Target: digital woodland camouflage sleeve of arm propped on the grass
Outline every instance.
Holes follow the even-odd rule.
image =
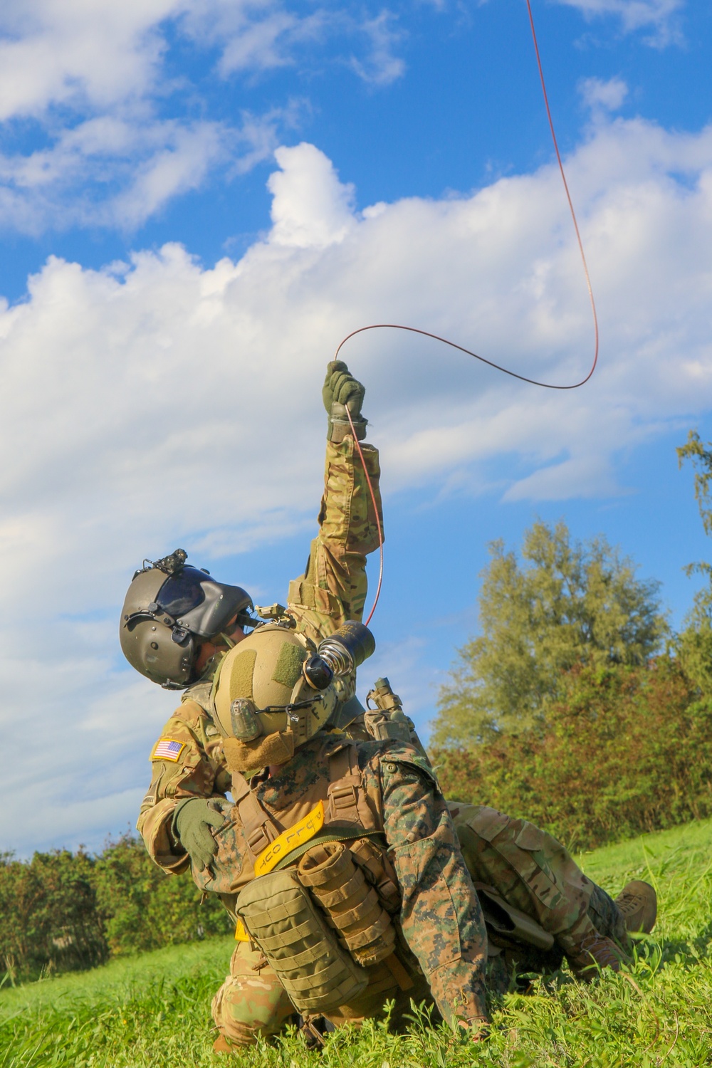
[[[487,934],[447,805],[415,750],[389,748],[379,763],[404,936],[444,1019],[475,1028],[487,1016]]]

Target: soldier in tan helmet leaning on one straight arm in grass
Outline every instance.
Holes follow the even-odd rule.
[[[614,902],[524,820],[456,804],[456,830],[429,761],[405,739],[330,731],[337,698],[323,661],[358,666],[348,660],[358,630],[315,648],[285,616],[221,663],[213,720],[234,804],[184,799],[173,819],[196,884],[237,921],[231,974],[212,1003],[217,1050],[276,1034],[296,1010],[307,1027],[314,1016],[338,1026],[392,1000],[399,1026],[411,999],[479,1038],[488,956],[496,990],[511,963],[553,971],[565,954],[585,977],[596,964],[619,968],[602,931],[624,945],[628,930],[654,922],[651,888],[631,883]],[[192,827],[206,810],[213,833],[199,841]],[[478,884],[487,933],[471,875],[488,883]],[[334,960],[339,946],[350,961]]]

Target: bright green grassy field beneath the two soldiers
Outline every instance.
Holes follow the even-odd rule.
[[[454,1040],[414,1020],[331,1035],[307,1053],[298,1035],[243,1056],[211,1052],[209,1004],[230,939],[211,939],[104,968],[0,990],[0,1068],[469,1068],[712,1065],[712,821],[645,835],[581,858],[614,895],[632,877],[658,889],[660,922],[620,975],[590,986],[563,971],[526,996],[492,1005],[487,1043]]]

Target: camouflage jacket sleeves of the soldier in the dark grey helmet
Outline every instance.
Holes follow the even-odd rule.
[[[365,442],[361,449],[381,519],[378,451]],[[287,597],[297,630],[314,642],[333,633],[347,619],[361,619],[366,599],[366,555],[378,548],[374,505],[351,437],[339,444],[327,443],[318,522],[319,534],[312,541],[304,574],[289,583]],[[176,760],[154,761],[152,783],[141,805],[137,827],[152,858],[168,871],[185,871],[189,864],[170,831],[176,802],[230,790],[222,738],[210,717],[210,680],[202,679],[183,694],[180,707],[161,736],[185,745]]]

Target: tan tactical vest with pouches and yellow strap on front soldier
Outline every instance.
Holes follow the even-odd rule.
[[[312,747],[301,767],[319,773],[282,785],[279,815],[233,772],[235,804],[226,835],[216,835],[215,865],[234,874],[237,937],[259,946],[303,1015],[352,1003],[375,985],[408,990],[420,973],[399,928],[381,799],[364,787],[357,744],[326,735]]]

